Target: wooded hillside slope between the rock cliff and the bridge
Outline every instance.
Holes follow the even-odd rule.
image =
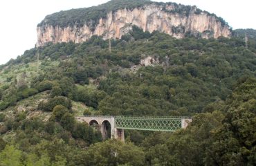
[[[96,36],[83,44],[39,48],[40,72],[28,76],[23,72],[25,79],[19,80],[12,74],[11,82],[3,81],[0,109],[50,91],[51,98],[40,102],[39,109],[51,111],[70,99],[98,114],[192,115],[211,102],[225,100],[239,78],[255,77],[255,46],[246,50],[242,39],[174,39],[134,27],[130,34],[111,42],[111,53],[108,42]],[[35,48],[27,50],[2,66],[2,73],[10,73],[17,65],[30,65],[35,53]],[[147,56],[158,57],[158,65],[138,68],[136,73],[129,70]]]

